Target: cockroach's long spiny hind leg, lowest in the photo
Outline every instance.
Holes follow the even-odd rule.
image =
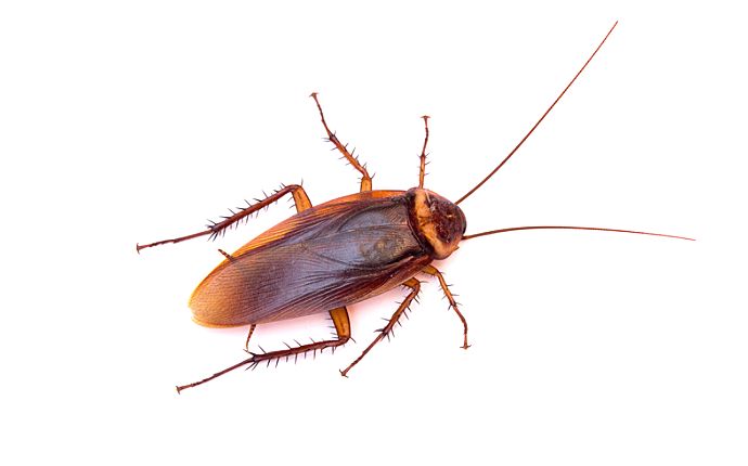
[[[334,351],[335,348],[339,347],[340,345],[345,345],[350,339],[350,320],[348,319],[348,312],[346,311],[346,308],[333,309],[332,311],[330,311],[330,316],[333,319],[333,323],[335,324],[335,332],[337,333],[337,338],[334,340],[312,341],[311,344],[299,345],[296,348],[292,348],[291,346],[286,345],[287,349],[284,350],[263,352],[261,354],[250,353],[250,358],[245,359],[244,361],[234,364],[231,367],[227,367],[223,371],[217,372],[210,377],[206,377],[202,380],[194,381],[192,384],[178,386],[177,392],[181,392],[186,388],[203,385],[206,381],[212,380],[216,377],[220,377],[221,375],[229,373],[235,368],[242,367],[244,365],[248,365],[249,367],[254,368],[259,363],[266,361],[268,362],[268,364],[270,364],[270,361],[272,360],[280,361],[283,358],[288,360],[291,357],[294,357],[294,360],[296,360],[299,354],[306,353],[307,351],[314,351],[314,354],[317,354],[317,351],[322,352],[326,348],[333,348]]]

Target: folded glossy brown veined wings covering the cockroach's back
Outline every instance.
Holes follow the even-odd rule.
[[[430,262],[402,192],[346,196],[298,213],[222,262],[190,299],[197,323],[292,319],[384,293]]]

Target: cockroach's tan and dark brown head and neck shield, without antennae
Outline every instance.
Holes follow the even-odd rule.
[[[467,220],[456,204],[422,187],[408,191],[411,228],[428,246],[435,259],[444,259],[457,248]]]

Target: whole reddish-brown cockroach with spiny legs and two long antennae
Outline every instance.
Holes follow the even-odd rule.
[[[408,191],[373,191],[372,177],[366,166],[340,143],[335,132],[331,131],[318,94],[313,92],[310,96],[314,100],[327,140],[361,174],[359,193],[312,206],[304,187],[298,184],[284,185],[265,199],[232,212],[220,222],[207,225],[205,231],[137,245],[140,253],[149,247],[180,243],[199,236],[215,240],[230,226],[287,194],[293,196],[296,205],[296,215],[272,226],[238,250],[228,254],[219,249],[224,260],[197,285],[190,298],[193,319],[201,325],[248,325],[245,350],[249,358],[202,380],[178,386],[177,391],[205,384],[237,367],[254,368],[266,361],[270,363],[272,360],[284,358],[296,359],[307,351],[317,352],[327,348],[334,350],[351,339],[349,306],[398,286],[409,289],[408,296],[387,324],[378,331],[376,338],[361,355],[340,371],[340,374],[347,377],[350,370],[390,334],[400,316],[416,298],[421,289],[421,282],[416,280],[420,273],[436,277],[441,285],[450,308],[462,322],[462,348],[467,349],[467,321],[441,272],[431,264],[434,260],[449,257],[462,241],[537,229],[595,230],[693,241],[660,233],[566,225],[517,226],[465,234],[467,221],[459,207],[460,204],[499,171],[532,134],[586,68],[617,24],[618,22],[612,25],[583,66],[510,154],[454,203],[424,187],[428,116],[422,117],[426,135],[420,157],[418,185]],[[323,312],[330,313],[337,338],[306,345],[297,344],[296,347],[286,345],[286,349],[275,351],[249,352],[249,338],[258,324]]]

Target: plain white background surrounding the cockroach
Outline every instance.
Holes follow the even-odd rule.
[[[4,2],[0,8],[3,464],[746,464],[745,25],[727,3]],[[312,3],[312,2],[310,2]],[[516,3],[516,2],[513,2]],[[376,172],[457,198],[465,243],[349,379],[401,290],[353,306],[334,357],[241,371],[244,329],[186,300],[284,202],[215,244],[136,254],[304,180]],[[255,344],[326,336],[323,316]]]

